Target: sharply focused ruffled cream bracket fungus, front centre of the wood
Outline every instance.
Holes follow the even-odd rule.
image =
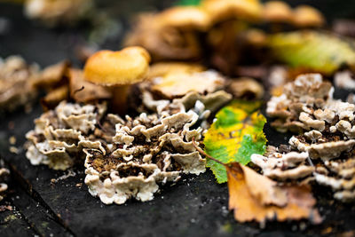
[[[114,148],[106,155],[84,149],[85,184],[106,204],[130,198],[149,201],[158,184],[177,181],[181,172],[200,174],[206,160],[192,143],[202,129],[191,129],[199,116],[189,110],[174,115],[141,114],[115,125]]]

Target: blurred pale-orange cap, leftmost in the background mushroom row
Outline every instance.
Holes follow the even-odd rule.
[[[164,26],[206,30],[210,25],[208,12],[195,6],[176,6],[157,15]]]

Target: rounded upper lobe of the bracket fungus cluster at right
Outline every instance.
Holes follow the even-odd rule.
[[[272,122],[277,130],[326,129],[330,110],[335,109],[331,83],[323,82],[321,75],[299,75],[294,82],[285,84],[283,91],[280,96],[273,96],[266,107],[266,114],[277,118]]]

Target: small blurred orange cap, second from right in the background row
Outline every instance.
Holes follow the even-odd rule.
[[[264,4],[263,18],[270,22],[292,22],[291,7],[282,1],[270,1]]]

